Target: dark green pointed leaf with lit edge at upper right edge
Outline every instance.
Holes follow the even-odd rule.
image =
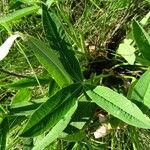
[[[150,60],[150,36],[145,32],[142,26],[137,22],[133,21],[133,35],[136,44],[141,51],[144,58]]]

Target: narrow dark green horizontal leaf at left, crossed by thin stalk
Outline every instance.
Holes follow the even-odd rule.
[[[50,82],[50,78],[39,78],[38,79],[41,85],[48,84]],[[14,81],[12,83],[0,83],[0,87],[5,88],[14,88],[14,89],[20,89],[20,88],[26,88],[26,87],[32,87],[32,86],[38,86],[38,83],[35,78],[25,78],[20,79],[18,81]]]

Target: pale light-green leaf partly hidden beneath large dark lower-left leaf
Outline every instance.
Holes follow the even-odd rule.
[[[43,150],[46,146],[51,144],[54,140],[56,140],[63,130],[69,124],[72,115],[77,109],[77,102],[70,107],[65,116],[51,129],[51,131],[38,143],[32,150]]]

